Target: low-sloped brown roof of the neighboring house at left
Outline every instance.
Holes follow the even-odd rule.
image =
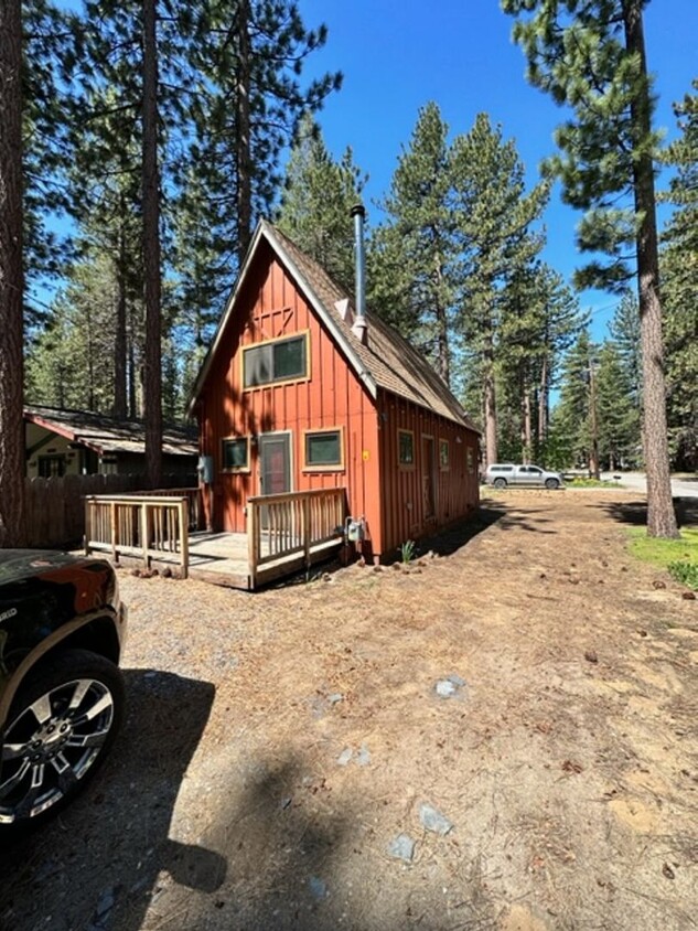
[[[66,410],[43,405],[25,406],[24,419],[97,452],[146,452],[146,427],[138,420],[118,420],[92,410]],[[196,429],[165,427],[162,451],[170,456],[194,456],[197,451]]]

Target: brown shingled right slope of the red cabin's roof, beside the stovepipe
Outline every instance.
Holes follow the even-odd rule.
[[[312,290],[325,313],[340,328],[343,341],[378,387],[477,430],[431,365],[396,330],[369,311],[366,312],[367,340],[363,345],[352,332],[351,323],[343,320],[335,307],[337,301],[350,296],[281,231],[269,223],[265,223],[265,227],[272,244],[276,239],[291,260],[291,274],[296,270],[294,277],[300,275],[301,278],[299,283]]]

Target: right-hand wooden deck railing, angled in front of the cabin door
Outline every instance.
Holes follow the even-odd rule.
[[[260,566],[293,555],[311,564],[311,549],[342,534],[345,489],[266,494],[247,500],[250,587]]]

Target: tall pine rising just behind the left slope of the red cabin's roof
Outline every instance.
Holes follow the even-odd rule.
[[[197,10],[195,129],[181,176],[195,172],[200,183],[193,199],[182,185],[182,207],[211,232],[218,296],[235,279],[254,223],[271,212],[280,157],[301,116],[341,86],[340,73],[300,82],[305,60],[326,35],[324,25],[308,30],[289,0],[211,0]]]

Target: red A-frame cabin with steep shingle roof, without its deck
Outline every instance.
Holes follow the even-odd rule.
[[[476,428],[427,362],[361,310],[357,327],[325,271],[259,224],[191,405],[212,529],[244,533],[250,496],[345,488],[365,555],[389,560],[476,510]]]

